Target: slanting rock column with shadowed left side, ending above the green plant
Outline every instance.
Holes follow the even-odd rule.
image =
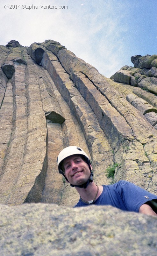
[[[132,136],[132,131],[124,118],[110,105],[109,101],[84,74],[75,72],[72,74],[72,79],[81,94],[84,95],[84,99],[89,103],[113,147],[117,144],[117,141],[113,139],[113,133],[117,134],[117,140],[123,140],[122,137]],[[111,131],[111,127],[113,131]]]

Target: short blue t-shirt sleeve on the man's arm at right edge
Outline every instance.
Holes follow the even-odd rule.
[[[139,207],[148,201],[157,199],[157,196],[135,184],[122,180],[119,181],[120,196],[128,211],[139,212]]]

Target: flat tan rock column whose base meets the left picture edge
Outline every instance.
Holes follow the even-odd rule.
[[[0,202],[2,204],[10,204],[17,200],[15,199],[15,190],[17,189],[17,179],[23,164],[27,132],[25,67],[25,65],[17,65],[16,72],[11,80],[13,85],[14,112],[13,120],[10,118],[9,123],[12,124],[13,121],[13,128],[0,177]],[[10,89],[12,89],[11,87],[10,85]],[[10,94],[12,94],[11,90]],[[4,97],[4,102],[7,101],[6,96]]]

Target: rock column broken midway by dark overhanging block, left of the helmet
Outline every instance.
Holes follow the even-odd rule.
[[[39,84],[47,126],[47,172],[41,202],[59,204],[63,181],[58,172],[56,159],[63,148],[61,124],[64,115],[53,91],[53,81],[44,68],[34,64],[34,75]]]

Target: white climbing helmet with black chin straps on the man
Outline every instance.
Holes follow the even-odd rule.
[[[89,180],[88,180],[85,184],[83,184],[83,185],[81,185],[81,186],[76,186],[76,187],[80,187],[80,188],[82,188],[82,187],[85,188],[86,186],[88,186],[89,182],[92,182],[92,181],[93,181],[93,179],[92,179],[92,177],[93,177],[93,172],[92,172],[92,170],[91,170],[91,162],[90,162],[90,159],[89,159],[89,157],[87,156],[87,154],[84,152],[84,150],[83,150],[82,148],[77,147],[77,146],[70,146],[70,147],[64,148],[64,149],[59,153],[59,155],[58,155],[58,157],[57,157],[57,165],[58,165],[59,173],[61,173],[61,174],[65,177],[65,179],[67,180],[67,177],[65,176],[65,173],[64,173],[64,170],[63,170],[63,168],[62,168],[62,164],[61,164],[61,163],[62,163],[62,161],[63,161],[65,158],[67,158],[68,156],[73,156],[73,155],[82,155],[82,156],[84,157],[86,163],[87,163],[88,166],[89,166],[89,170],[90,170],[90,173],[91,173]],[[67,180],[67,181],[68,181],[68,180]],[[72,187],[74,187],[74,185],[72,185],[72,184],[70,184],[70,185],[71,185]]]

